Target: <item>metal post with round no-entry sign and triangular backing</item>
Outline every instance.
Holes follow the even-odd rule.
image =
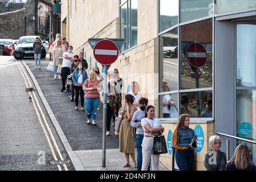
[[[112,63],[114,63],[119,56],[119,50],[124,44],[124,39],[88,39],[92,49],[94,49],[94,57],[97,62],[104,67],[103,80],[103,130],[102,130],[102,167],[105,167],[106,160],[106,130],[107,130],[107,73]]]

